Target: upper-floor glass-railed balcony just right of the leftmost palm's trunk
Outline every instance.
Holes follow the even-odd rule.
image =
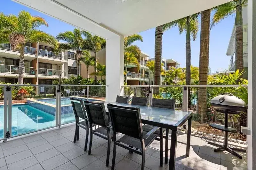
[[[68,58],[66,55],[62,53],[44,50],[44,49],[38,49],[38,59],[39,59],[39,62],[42,62],[42,63],[51,62],[52,64],[59,64],[60,62],[61,63],[68,62]]]

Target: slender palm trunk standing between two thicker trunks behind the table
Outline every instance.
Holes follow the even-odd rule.
[[[190,39],[190,16],[187,17],[187,27],[186,27],[186,85],[191,83],[191,39]],[[190,87],[188,87],[188,108],[191,107],[190,101]]]

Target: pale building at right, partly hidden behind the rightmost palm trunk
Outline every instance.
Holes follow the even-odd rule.
[[[244,47],[244,78],[248,79],[248,53],[247,53],[247,48],[248,48],[248,37],[247,37],[247,32],[248,32],[248,22],[247,22],[247,4],[245,4],[242,7],[242,17],[243,17],[243,47]],[[235,66],[236,66],[236,41],[235,41],[235,25],[233,27],[231,37],[228,43],[228,49],[227,49],[227,54],[230,57],[229,61],[229,71],[235,71]]]

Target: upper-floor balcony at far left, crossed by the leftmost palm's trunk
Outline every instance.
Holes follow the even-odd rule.
[[[0,55],[7,58],[17,58],[20,55],[20,49],[14,48],[10,43],[0,44]],[[24,47],[24,59],[33,60],[36,58],[36,48]]]

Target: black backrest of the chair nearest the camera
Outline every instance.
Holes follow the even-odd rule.
[[[139,107],[122,107],[108,104],[113,134],[116,132],[142,140],[142,124]]]

